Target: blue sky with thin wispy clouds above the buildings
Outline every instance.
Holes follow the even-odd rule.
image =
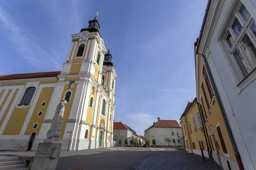
[[[179,120],[196,96],[194,42],[203,0],[11,0],[0,4],[0,74],[60,71],[70,34],[99,12],[117,72],[116,111],[138,134],[160,119]]]

